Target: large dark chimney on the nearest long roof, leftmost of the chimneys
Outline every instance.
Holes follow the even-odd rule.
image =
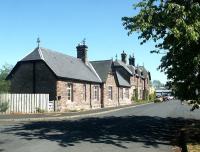
[[[77,50],[77,58],[81,59],[84,63],[86,63],[88,47],[85,44],[85,40],[83,40],[82,44],[78,44],[76,50]]]

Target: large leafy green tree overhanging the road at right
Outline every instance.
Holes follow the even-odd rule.
[[[139,32],[141,44],[153,40],[163,53],[158,67],[181,100],[200,99],[200,2],[199,0],[142,0],[139,13],[123,17],[128,35]]]

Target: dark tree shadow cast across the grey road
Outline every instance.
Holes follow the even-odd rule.
[[[21,124],[4,131],[26,140],[46,139],[56,141],[61,146],[76,143],[111,144],[127,148],[124,143],[141,142],[144,146],[159,147],[172,145],[179,135],[179,129],[186,123],[197,120],[182,118],[161,118],[150,116],[126,116],[87,118]]]

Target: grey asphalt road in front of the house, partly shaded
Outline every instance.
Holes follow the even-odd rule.
[[[200,121],[200,110],[170,101],[86,118],[0,122],[0,152],[172,152],[191,121]]]

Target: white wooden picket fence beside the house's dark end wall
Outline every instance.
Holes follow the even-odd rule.
[[[8,102],[10,113],[37,113],[38,109],[45,112],[52,110],[49,94],[0,94],[0,104]]]

